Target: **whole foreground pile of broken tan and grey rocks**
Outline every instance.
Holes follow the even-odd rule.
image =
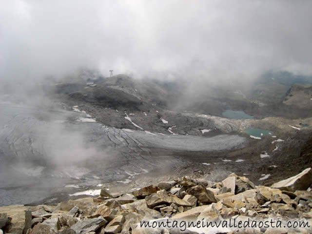
[[[57,206],[0,207],[0,233],[10,234],[201,234],[201,233],[312,233],[312,169],[308,168],[271,187],[255,186],[245,176],[231,174],[222,182],[185,176],[150,185],[128,194],[59,203]],[[310,227],[196,227],[198,221],[235,219],[297,220]],[[141,227],[140,223],[176,220],[176,227]],[[181,226],[193,221],[195,227]],[[281,221],[281,222],[282,222]]]

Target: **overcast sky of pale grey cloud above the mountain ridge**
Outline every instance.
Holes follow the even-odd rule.
[[[312,71],[310,0],[0,0],[0,77]]]

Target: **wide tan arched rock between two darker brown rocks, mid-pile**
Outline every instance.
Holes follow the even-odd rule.
[[[154,208],[159,205],[170,205],[171,203],[176,204],[177,206],[191,207],[192,205],[176,195],[172,195],[164,190],[158,191],[156,194],[152,194],[145,197],[146,204],[149,208]]]

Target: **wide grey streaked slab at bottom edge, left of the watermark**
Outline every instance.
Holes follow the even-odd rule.
[[[71,229],[73,229],[76,234],[87,234],[97,231],[106,223],[107,221],[102,216],[97,218],[85,218],[71,226]]]

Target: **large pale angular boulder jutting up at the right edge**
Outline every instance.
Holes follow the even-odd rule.
[[[296,190],[307,190],[312,184],[312,169],[307,168],[296,176],[274,183],[271,187],[280,190],[294,192]]]

